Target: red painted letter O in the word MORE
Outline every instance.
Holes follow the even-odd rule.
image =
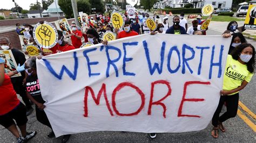
[[[120,113],[117,108],[116,108],[116,94],[119,90],[121,90],[123,87],[131,87],[133,89],[135,89],[138,94],[140,95],[140,97],[142,98],[142,104],[140,104],[140,107],[139,109],[136,111],[136,112],[133,112],[133,113]],[[117,85],[117,87],[113,90],[113,93],[112,93],[112,106],[113,106],[113,110],[114,112],[116,112],[117,115],[119,116],[133,116],[133,115],[138,115],[138,113],[140,111],[142,111],[143,107],[145,105],[145,95],[144,93],[142,92],[142,90],[140,90],[138,87],[136,87],[136,85],[133,85],[132,83],[130,82],[123,82],[123,83],[120,83]]]

